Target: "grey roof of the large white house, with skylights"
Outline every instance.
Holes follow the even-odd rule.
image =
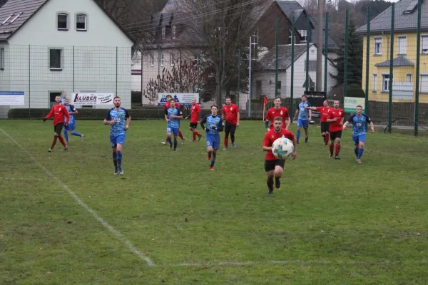
[[[26,21],[28,21],[37,11],[39,11],[44,4],[46,4],[49,0],[9,0],[1,6],[0,8],[0,40],[7,40],[13,34],[24,26]],[[123,33],[128,36],[128,38],[135,43],[134,39],[127,33],[118,22],[113,19],[113,17],[108,14],[106,9],[101,6],[101,4],[96,1],[96,4],[104,11],[104,13],[111,19],[111,21],[121,29]],[[12,15],[12,16],[11,16]],[[9,16],[11,16],[9,18]],[[18,16],[16,18],[16,16]],[[16,18],[16,19],[15,19]],[[7,21],[6,21],[7,19]],[[3,24],[4,23],[4,24]]]

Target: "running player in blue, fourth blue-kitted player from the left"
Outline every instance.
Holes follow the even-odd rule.
[[[211,160],[210,170],[214,170],[215,158],[217,157],[217,150],[220,147],[220,134],[223,132],[223,120],[217,115],[218,106],[211,106],[211,115],[206,116],[200,121],[200,126],[205,130],[205,140],[207,142],[208,160]],[[205,124],[207,124],[205,128]]]

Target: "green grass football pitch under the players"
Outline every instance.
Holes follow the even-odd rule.
[[[0,284],[427,284],[427,138],[367,135],[357,165],[349,130],[330,160],[310,126],[269,197],[261,121],[211,172],[204,138],[170,152],[133,121],[123,177],[108,127],[77,123],[49,153],[51,121],[0,120]]]

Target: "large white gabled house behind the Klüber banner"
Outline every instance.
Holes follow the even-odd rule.
[[[55,95],[115,93],[131,108],[133,40],[95,0],[9,0],[0,8],[0,91],[50,108]]]

